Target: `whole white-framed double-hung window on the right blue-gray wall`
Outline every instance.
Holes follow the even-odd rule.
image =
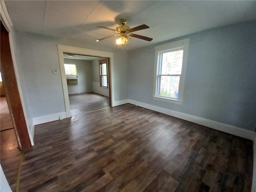
[[[189,38],[155,47],[153,98],[182,104]]]

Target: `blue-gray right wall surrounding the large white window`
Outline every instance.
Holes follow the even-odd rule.
[[[183,105],[152,99],[154,47],[130,51],[128,98],[254,130],[255,32],[256,22],[248,22],[176,39],[190,38]]]

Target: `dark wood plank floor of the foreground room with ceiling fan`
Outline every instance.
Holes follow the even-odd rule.
[[[22,192],[250,192],[252,184],[252,141],[132,104],[37,125],[34,142],[23,151]]]

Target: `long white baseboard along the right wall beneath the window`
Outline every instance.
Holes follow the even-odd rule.
[[[157,112],[160,112],[163,114],[174,116],[174,117],[177,117],[177,118],[180,118],[183,120],[187,120],[187,121],[190,121],[190,122],[193,122],[196,124],[200,124],[200,125],[210,127],[210,128],[216,129],[216,130],[220,130],[220,131],[232,134],[232,135],[236,135],[236,136],[239,136],[242,138],[254,140],[254,132],[253,131],[245,130],[245,129],[235,127],[232,125],[212,121],[209,119],[177,112],[174,110],[170,110],[170,109],[166,109],[166,108],[162,108],[162,107],[158,107],[158,106],[154,106],[154,105],[150,105],[150,104],[146,104],[146,103],[142,103],[142,102],[138,102],[138,101],[134,101],[134,100],[128,100],[128,102],[130,104],[134,104],[136,106],[140,106],[140,107],[147,108],[147,109],[150,109],[153,111],[157,111]]]

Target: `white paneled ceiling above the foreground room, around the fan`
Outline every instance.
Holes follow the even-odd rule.
[[[115,32],[120,19],[133,28],[146,24],[150,28],[133,32],[153,38],[151,42],[131,38],[127,46],[134,50],[202,30],[256,20],[256,1],[6,1],[14,28],[19,31],[89,42],[116,48],[115,38],[95,42]]]

